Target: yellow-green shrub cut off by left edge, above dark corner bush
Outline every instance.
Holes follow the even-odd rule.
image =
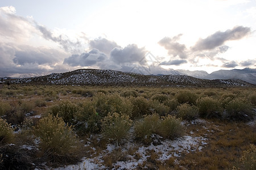
[[[0,118],[0,145],[14,141],[13,128],[5,120]]]

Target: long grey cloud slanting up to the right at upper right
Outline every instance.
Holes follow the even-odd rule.
[[[250,33],[249,27],[234,27],[233,29],[228,29],[224,32],[217,31],[213,35],[208,36],[206,39],[200,39],[192,47],[193,51],[197,50],[210,50],[218,46],[221,46],[226,41],[240,40]],[[225,50],[225,49],[224,49]]]

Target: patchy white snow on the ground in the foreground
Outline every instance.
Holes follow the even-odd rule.
[[[200,151],[205,145],[207,145],[207,138],[203,137],[191,137],[186,135],[181,138],[177,138],[174,141],[166,140],[162,142],[162,145],[154,146],[152,143],[150,146],[143,146],[135,143],[134,141],[127,141],[122,146],[122,152],[127,152],[129,148],[137,148],[135,154],[140,155],[140,158],[135,159],[134,155],[127,156],[126,161],[116,162],[113,165],[114,169],[135,169],[138,165],[142,165],[150,157],[148,151],[154,150],[159,155],[158,161],[164,162],[171,157],[180,157],[181,154],[186,154],[193,151]],[[117,149],[115,145],[108,145],[106,150],[101,151],[101,154],[90,159],[83,158],[82,162],[76,165],[68,165],[66,167],[59,167],[56,170],[73,170],[73,169],[105,169],[104,160],[102,158],[106,154],[110,154]]]

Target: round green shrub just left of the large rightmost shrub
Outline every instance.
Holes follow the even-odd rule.
[[[196,101],[199,108],[199,116],[203,118],[221,117],[223,111],[218,100],[211,97],[202,97]]]

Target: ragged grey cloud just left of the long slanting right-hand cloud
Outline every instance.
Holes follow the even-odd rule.
[[[184,44],[180,44],[177,42],[180,39],[180,35],[175,37],[164,37],[162,40],[158,42],[159,45],[163,46],[166,50],[168,50],[168,55],[180,58],[187,58],[186,46]]]

